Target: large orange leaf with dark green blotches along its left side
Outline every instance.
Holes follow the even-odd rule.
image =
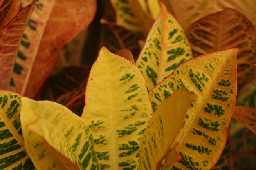
[[[27,3],[29,0],[22,0]],[[37,1],[13,69],[11,90],[34,97],[66,42],[94,17],[95,0]]]

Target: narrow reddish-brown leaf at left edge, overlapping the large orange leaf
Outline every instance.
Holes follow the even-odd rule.
[[[4,2],[7,1],[2,1],[2,3]],[[11,73],[22,39],[22,33],[34,9],[34,5],[35,2],[25,7],[2,28],[2,32],[0,30],[0,89],[9,88]]]

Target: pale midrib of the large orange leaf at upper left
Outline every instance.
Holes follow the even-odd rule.
[[[49,2],[49,1],[48,1],[48,2]],[[41,31],[41,33],[40,33],[39,38],[38,38],[39,41],[37,42],[36,48],[35,48],[34,53],[33,53],[33,55],[32,55],[33,57],[32,57],[31,63],[29,64],[29,69],[28,69],[28,72],[27,72],[27,76],[26,76],[26,79],[25,79],[24,84],[23,84],[23,86],[22,86],[21,95],[24,95],[24,93],[25,93],[27,84],[28,84],[28,82],[29,82],[30,73],[31,73],[31,70],[32,70],[32,68],[33,68],[34,61],[35,61],[35,59],[36,59],[36,55],[37,55],[37,52],[38,52],[38,48],[39,48],[39,46],[40,46],[40,44],[41,44],[41,40],[42,40],[42,37],[43,37],[43,33],[45,32],[45,26],[47,25],[47,22],[48,22],[48,20],[49,20],[49,18],[50,18],[50,15],[51,15],[51,13],[52,13],[52,9],[53,9],[53,7],[54,7],[54,5],[55,5],[55,2],[56,2],[56,0],[54,0],[54,2],[52,2],[52,7],[51,7],[51,9],[47,9],[49,12],[48,12],[48,15],[45,17],[45,21],[46,21],[46,22],[45,22],[45,24],[43,25],[43,29],[42,29],[42,31]],[[33,11],[33,12],[34,12],[34,11]]]

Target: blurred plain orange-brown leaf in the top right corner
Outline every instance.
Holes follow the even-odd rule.
[[[256,0],[161,0],[168,4],[170,11],[182,27],[186,29],[190,24],[200,18],[222,11],[225,8],[232,8],[243,13],[256,26]]]

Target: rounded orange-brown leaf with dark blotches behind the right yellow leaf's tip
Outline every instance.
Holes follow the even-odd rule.
[[[230,48],[238,48],[238,88],[256,77],[254,26],[243,14],[224,9],[208,15],[186,29],[193,56]],[[240,90],[240,89],[239,89]]]

